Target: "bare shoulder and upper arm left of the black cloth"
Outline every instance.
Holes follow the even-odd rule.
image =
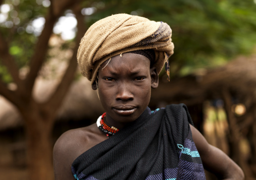
[[[55,179],[74,179],[71,171],[73,161],[105,139],[96,124],[63,133],[53,147]]]

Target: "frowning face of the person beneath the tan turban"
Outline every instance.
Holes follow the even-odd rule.
[[[104,62],[98,72],[98,94],[107,122],[121,128],[136,120],[149,104],[151,87],[157,86],[156,70],[143,55],[124,53]]]

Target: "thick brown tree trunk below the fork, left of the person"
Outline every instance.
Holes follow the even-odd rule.
[[[42,107],[36,104],[30,107],[22,112],[26,119],[28,176],[30,180],[53,180],[51,132],[55,116],[42,113]]]

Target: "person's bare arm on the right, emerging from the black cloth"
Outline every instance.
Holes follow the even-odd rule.
[[[219,179],[244,179],[242,169],[231,158],[222,150],[210,145],[194,126],[190,125],[190,128],[205,169],[214,173]]]

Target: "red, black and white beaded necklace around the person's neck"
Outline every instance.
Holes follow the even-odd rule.
[[[97,119],[97,126],[98,128],[106,133],[107,138],[109,138],[109,135],[114,135],[119,129],[117,129],[114,126],[110,126],[106,123],[106,121],[104,121],[106,117],[106,113],[103,113],[98,119]]]

